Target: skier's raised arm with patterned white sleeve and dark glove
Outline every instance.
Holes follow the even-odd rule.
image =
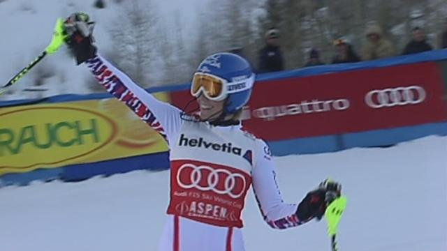
[[[147,93],[112,63],[99,56],[92,38],[93,22],[85,13],[74,13],[64,22],[64,34],[79,64],[86,63],[98,82],[115,98],[124,102],[142,121],[160,133],[168,143],[182,126],[181,111]]]

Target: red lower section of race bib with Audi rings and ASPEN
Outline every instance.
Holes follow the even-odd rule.
[[[251,176],[240,169],[196,160],[174,160],[168,213],[220,227],[242,227]]]

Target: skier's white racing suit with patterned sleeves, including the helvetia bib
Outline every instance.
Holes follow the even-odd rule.
[[[275,167],[263,140],[241,126],[212,126],[156,100],[111,63],[87,61],[105,89],[159,132],[170,149],[170,204],[159,250],[244,250],[241,213],[253,186],[270,227],[295,227],[304,220],[296,204],[281,198]]]

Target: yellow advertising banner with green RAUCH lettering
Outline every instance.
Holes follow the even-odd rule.
[[[162,151],[163,137],[114,98],[0,108],[0,175]]]

